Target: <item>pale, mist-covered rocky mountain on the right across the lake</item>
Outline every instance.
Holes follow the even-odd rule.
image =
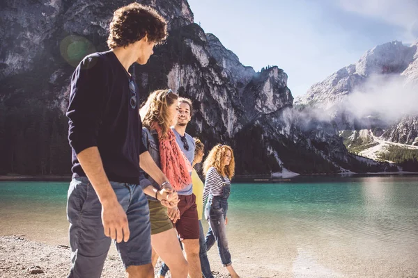
[[[418,144],[417,97],[418,43],[394,41],[374,47],[357,63],[316,83],[295,107],[306,113],[325,111],[350,152],[416,163],[418,150],[412,146]]]

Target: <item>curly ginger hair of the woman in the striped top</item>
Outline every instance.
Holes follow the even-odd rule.
[[[231,162],[229,165],[221,165],[222,161],[224,161],[226,151],[231,152]],[[229,179],[232,179],[235,174],[235,158],[233,156],[232,148],[227,145],[220,144],[213,147],[203,163],[203,173],[205,175],[208,173],[210,167],[215,167],[219,174],[222,174],[222,176],[228,176]]]

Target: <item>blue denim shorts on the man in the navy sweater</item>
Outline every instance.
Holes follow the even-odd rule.
[[[141,186],[111,182],[125,210],[130,238],[116,243],[123,265],[151,263],[151,231],[148,200]],[[70,222],[72,268],[68,277],[100,277],[111,238],[104,235],[102,204],[86,177],[72,179],[68,188],[67,218]]]

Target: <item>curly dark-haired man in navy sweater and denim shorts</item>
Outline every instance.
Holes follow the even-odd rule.
[[[150,182],[140,167],[161,185],[151,190],[153,196],[167,206],[178,199],[142,143],[139,95],[128,69],[146,64],[166,36],[167,23],[152,8],[139,3],[119,8],[109,27],[111,50],[86,56],[72,75],[66,114],[73,172],[69,277],[100,277],[111,240],[127,277],[154,277],[144,195]]]

